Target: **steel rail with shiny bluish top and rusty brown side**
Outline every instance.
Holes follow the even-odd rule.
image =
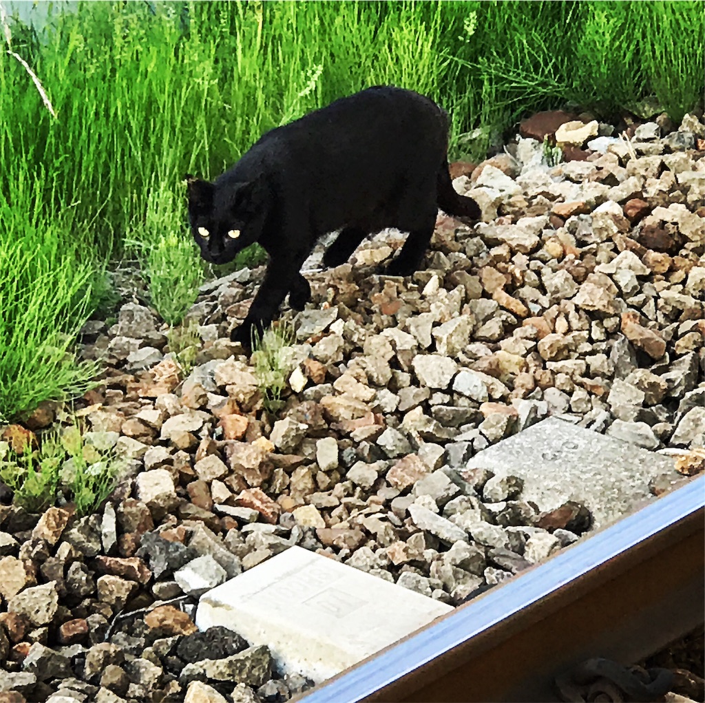
[[[583,700],[581,663],[634,664],[705,621],[704,506],[699,476],[297,700]]]

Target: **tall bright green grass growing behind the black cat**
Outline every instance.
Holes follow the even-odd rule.
[[[704,31],[697,0],[82,1],[41,35],[13,25],[9,44],[0,35],[13,52],[0,53],[0,413],[85,388],[94,369],[68,350],[106,259],[141,255],[178,322],[201,270],[185,173],[213,178],[264,131],[380,83],[448,109],[451,157],[481,159],[517,118],[566,104],[611,116],[654,94],[678,120],[702,99]]]

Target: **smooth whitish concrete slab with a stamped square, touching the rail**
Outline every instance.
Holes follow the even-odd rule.
[[[299,546],[200,599],[196,625],[266,644],[285,673],[317,683],[453,607]]]

